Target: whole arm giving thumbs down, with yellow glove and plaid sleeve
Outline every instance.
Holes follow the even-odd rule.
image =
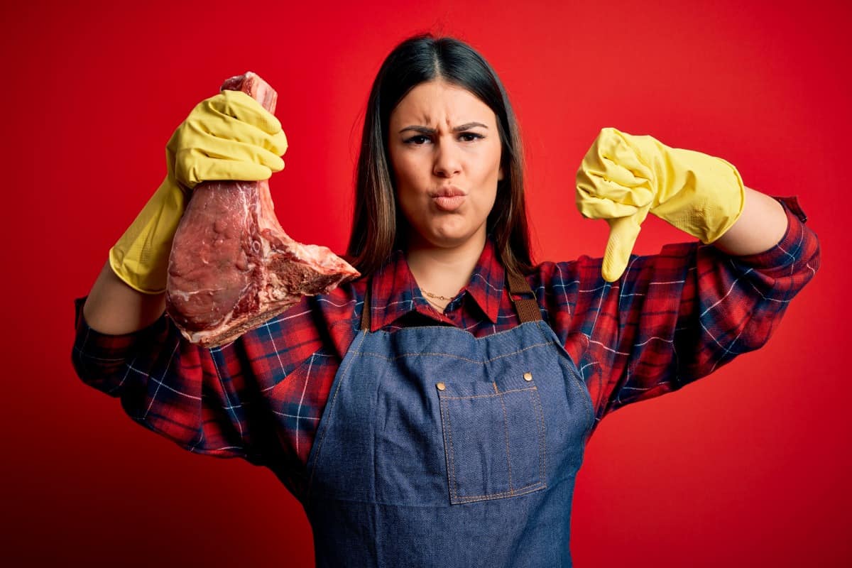
[[[820,265],[795,198],[770,198],[724,159],[648,135],[602,129],[580,164],[577,204],[609,224],[606,253],[560,267],[566,306],[549,310],[570,314],[556,317],[559,333],[598,419],[761,347]],[[704,245],[631,255],[648,213]]]

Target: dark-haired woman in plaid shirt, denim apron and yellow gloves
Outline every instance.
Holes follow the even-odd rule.
[[[597,422],[763,345],[819,265],[795,199],[603,129],[578,205],[609,222],[607,254],[533,266],[498,77],[464,43],[412,37],[368,102],[348,249],[363,277],[222,348],[190,345],[162,315],[185,188],[265,179],[285,147],[244,95],[196,107],[78,300],[73,357],[146,427],[272,469],[308,513],[318,565],[570,565]],[[648,212],[705,244],[630,255]]]

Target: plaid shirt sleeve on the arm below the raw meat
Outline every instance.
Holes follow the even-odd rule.
[[[182,448],[243,457],[290,485],[307,462],[341,353],[354,336],[354,300],[303,297],[237,341],[207,349],[159,318],[135,333],[89,327],[76,301],[72,364],[87,385],[121,400],[130,418]]]

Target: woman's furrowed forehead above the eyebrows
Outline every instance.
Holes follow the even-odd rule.
[[[391,128],[402,123],[452,127],[472,121],[492,127],[497,117],[469,90],[440,80],[420,83],[390,113]]]

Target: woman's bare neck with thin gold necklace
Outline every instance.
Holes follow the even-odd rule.
[[[408,267],[420,290],[452,298],[469,283],[476,261],[485,247],[485,232],[477,233],[463,244],[437,247],[412,243],[406,250]],[[446,303],[441,302],[441,303]]]

